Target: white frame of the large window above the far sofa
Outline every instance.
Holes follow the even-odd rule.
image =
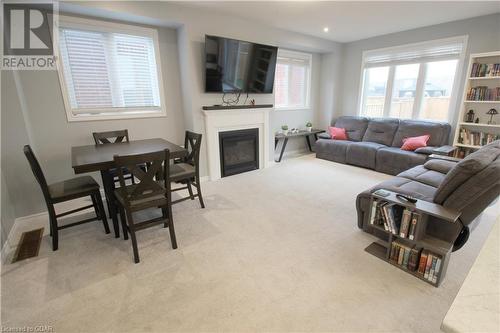
[[[432,58],[415,58],[412,60],[405,60],[405,61],[389,61],[389,62],[381,62],[379,65],[373,65],[373,66],[367,66],[366,58],[370,55],[377,54],[377,53],[396,53],[398,51],[404,51],[404,50],[412,50],[412,49],[418,49],[418,48],[425,48],[425,47],[432,47],[432,46],[438,46],[442,43],[452,43],[452,42],[460,42],[462,44],[462,49],[460,51],[460,54],[457,55],[450,55],[450,56],[440,56],[435,59]],[[419,73],[417,77],[417,82],[416,82],[416,90],[415,90],[415,99],[413,103],[413,109],[412,109],[412,117],[410,119],[412,120],[430,120],[430,121],[436,121],[435,119],[427,119],[427,118],[420,118],[420,115],[422,113],[422,104],[423,104],[423,94],[424,94],[424,85],[425,81],[427,79],[427,64],[429,62],[435,62],[435,61],[445,61],[445,60],[458,60],[457,61],[457,67],[455,70],[455,77],[453,78],[453,85],[452,85],[452,90],[450,94],[450,103],[448,106],[448,112],[447,112],[447,122],[453,123],[455,121],[455,118],[459,112],[457,110],[456,106],[458,104],[458,97],[459,93],[458,90],[460,89],[460,82],[461,78],[463,75],[463,70],[464,70],[464,63],[465,63],[465,55],[467,53],[467,45],[468,44],[468,35],[463,35],[463,36],[456,36],[456,37],[450,37],[450,38],[443,38],[443,39],[435,39],[435,40],[430,40],[430,41],[424,41],[424,42],[418,42],[418,43],[411,43],[411,44],[404,44],[404,45],[398,45],[398,46],[392,46],[392,47],[387,47],[387,48],[381,48],[381,49],[374,49],[374,50],[366,50],[363,51],[362,59],[361,59],[361,71],[360,71],[360,84],[359,84],[359,92],[358,92],[358,105],[357,105],[357,114],[359,116],[364,116],[364,117],[369,117],[368,115],[365,115],[363,112],[363,106],[365,102],[365,72],[367,68],[376,68],[376,67],[389,67],[389,74],[387,78],[387,84],[386,84],[386,93],[385,93],[385,101],[384,101],[384,110],[383,110],[383,115],[382,117],[390,117],[390,111],[391,111],[391,102],[392,102],[392,96],[394,93],[394,78],[396,74],[396,67],[398,65],[406,65],[406,64],[414,64],[418,63],[420,64],[419,66]],[[455,110],[455,111],[453,111]]]

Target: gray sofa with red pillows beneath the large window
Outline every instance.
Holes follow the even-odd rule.
[[[346,129],[348,141],[332,140],[322,133],[316,141],[316,157],[396,175],[424,164],[436,149],[446,146],[450,125],[442,122],[394,118],[340,117],[332,126]],[[428,146],[415,152],[400,149],[406,137],[429,134]]]

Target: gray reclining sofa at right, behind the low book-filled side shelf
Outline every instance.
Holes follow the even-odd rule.
[[[368,222],[368,210],[371,193],[378,189],[409,194],[460,212],[458,225],[435,223],[435,230],[430,230],[455,242],[458,249],[467,241],[476,217],[500,194],[500,140],[463,160],[430,159],[360,193],[356,199],[358,227],[373,234],[377,231]]]

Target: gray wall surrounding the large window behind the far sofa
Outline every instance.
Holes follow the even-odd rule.
[[[342,103],[335,115],[356,115],[358,112],[363,51],[462,35],[468,35],[469,40],[466,60],[461,69],[462,77],[459,81],[458,103],[460,103],[463,83],[468,74],[466,71],[469,54],[500,50],[500,14],[443,23],[345,44],[342,65]],[[458,115],[459,110],[456,112]]]

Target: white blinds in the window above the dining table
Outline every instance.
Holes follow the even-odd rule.
[[[153,38],[61,28],[59,42],[74,114],[160,108]]]

